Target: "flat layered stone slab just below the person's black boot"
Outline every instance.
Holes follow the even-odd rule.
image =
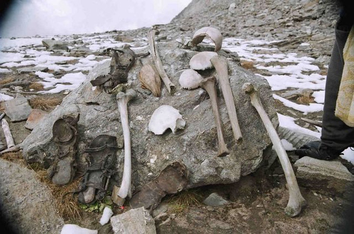
[[[335,195],[353,192],[354,175],[338,161],[303,157],[294,166],[297,167],[296,178],[304,187]]]

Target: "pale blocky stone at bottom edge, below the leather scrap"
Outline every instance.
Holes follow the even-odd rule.
[[[144,207],[110,218],[114,234],[156,234],[155,221]]]

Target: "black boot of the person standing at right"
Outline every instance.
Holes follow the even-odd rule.
[[[320,159],[333,160],[342,154],[343,150],[335,150],[329,146],[322,145],[320,141],[309,142],[299,149],[295,150],[295,154],[302,158],[304,156]]]

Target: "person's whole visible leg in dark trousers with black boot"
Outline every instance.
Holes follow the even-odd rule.
[[[327,72],[325,102],[322,117],[321,142],[310,142],[295,151],[300,157],[331,160],[349,146],[354,146],[354,128],[335,116],[339,85],[343,72],[343,48],[353,22],[340,19],[336,25],[336,38]]]

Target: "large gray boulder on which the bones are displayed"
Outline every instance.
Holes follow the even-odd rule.
[[[178,83],[184,69],[189,68],[189,60],[198,52],[178,48],[177,43],[158,43],[160,57],[171,81],[175,84],[173,94],[169,94],[161,84],[161,97],[154,97],[143,90],[137,79],[142,64],[152,63],[151,55],[140,58],[129,72],[128,80],[137,91],[137,98],[128,105],[132,146],[132,184],[139,188],[159,175],[162,169],[175,161],[185,164],[189,171],[188,187],[208,184],[232,183],[241,175],[254,172],[270,152],[270,139],[250,98],[242,91],[242,84],[251,82],[259,90],[266,112],[274,126],[278,118],[268,82],[262,77],[239,67],[229,60],[230,83],[234,94],[238,119],[243,134],[243,142],[236,145],[222,93],[218,89],[219,112],[223,122],[225,143],[231,154],[216,157],[218,150],[215,122],[211,102],[202,89],[185,90]],[[147,50],[147,48],[145,49]],[[223,54],[227,54],[223,52]],[[72,91],[53,112],[37,126],[22,143],[23,156],[29,162],[40,162],[49,166],[58,154],[52,142],[52,126],[60,116],[80,113],[79,156],[77,162],[85,162],[83,150],[99,134],[121,138],[122,126],[115,95],[93,89],[89,80],[109,72],[110,61],[97,64],[90,71],[88,80]],[[208,74],[210,73],[210,74]],[[216,74],[205,71],[204,76]],[[161,105],[171,105],[179,110],[186,121],[184,130],[173,134],[170,130],[156,136],[147,130],[150,117]],[[122,177],[124,150],[118,151],[116,180]],[[134,187],[133,187],[134,190]]]

